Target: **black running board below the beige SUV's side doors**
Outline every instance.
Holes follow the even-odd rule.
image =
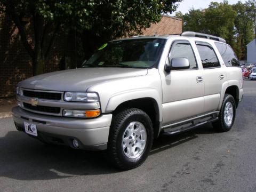
[[[173,123],[173,124],[164,126],[164,127],[162,127],[163,131],[161,132],[161,134],[162,135],[172,135],[172,134],[180,133],[180,132],[187,131],[190,129],[194,129],[195,127],[204,125],[206,123],[212,123],[219,119],[218,114],[219,114],[219,111],[216,111],[211,114],[206,114],[203,116],[188,119],[186,121]]]

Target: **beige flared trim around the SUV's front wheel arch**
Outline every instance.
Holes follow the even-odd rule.
[[[156,101],[159,109],[158,111],[159,117],[157,119],[159,119],[159,121],[162,122],[163,120],[162,100],[157,90],[155,89],[136,89],[136,90],[129,90],[129,91],[124,91],[121,93],[114,94],[108,100],[108,103],[106,106],[106,112],[110,113],[114,111],[123,102],[134,100],[134,99],[142,99],[142,98],[152,98]]]

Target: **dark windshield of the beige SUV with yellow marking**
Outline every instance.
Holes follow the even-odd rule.
[[[103,44],[82,67],[150,68],[159,60],[165,39],[127,39]]]

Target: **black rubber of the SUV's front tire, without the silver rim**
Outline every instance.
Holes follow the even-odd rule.
[[[140,122],[145,126],[147,140],[141,155],[137,158],[129,158],[124,154],[122,139],[127,126],[134,121]],[[114,115],[113,121],[111,122],[106,158],[119,169],[129,170],[138,167],[145,162],[148,157],[153,144],[153,135],[153,124],[149,116],[143,110],[137,108],[124,109]]]

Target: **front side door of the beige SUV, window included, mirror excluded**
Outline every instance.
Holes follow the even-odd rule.
[[[173,58],[187,58],[189,69],[161,73],[163,87],[163,126],[203,113],[203,71],[198,67],[195,53],[189,41],[172,43],[166,62]],[[170,63],[169,63],[170,65]]]

